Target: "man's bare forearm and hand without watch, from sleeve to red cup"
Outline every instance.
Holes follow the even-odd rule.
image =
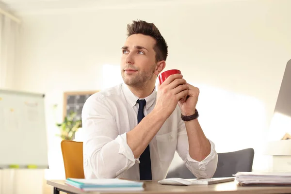
[[[189,86],[181,74],[169,76],[158,87],[157,102],[152,112],[132,130],[127,132],[127,144],[134,158],[139,158],[166,119],[177,107],[179,99],[188,94]]]

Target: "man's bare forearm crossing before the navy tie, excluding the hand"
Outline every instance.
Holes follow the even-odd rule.
[[[132,130],[127,133],[127,144],[133,152],[134,158],[139,158],[146,146],[161,129],[166,118],[153,110]]]

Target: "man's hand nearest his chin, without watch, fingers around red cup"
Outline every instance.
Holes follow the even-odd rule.
[[[182,78],[181,74],[174,74],[158,86],[155,110],[166,118],[173,113],[178,101],[189,94],[189,84],[186,84],[186,81]]]

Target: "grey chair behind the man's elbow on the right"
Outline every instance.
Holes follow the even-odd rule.
[[[255,151],[253,148],[218,153],[218,163],[212,178],[233,177],[237,172],[251,172]],[[196,178],[184,163],[168,172],[166,178]]]

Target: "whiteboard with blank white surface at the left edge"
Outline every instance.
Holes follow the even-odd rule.
[[[44,97],[0,90],[0,168],[48,168]]]

